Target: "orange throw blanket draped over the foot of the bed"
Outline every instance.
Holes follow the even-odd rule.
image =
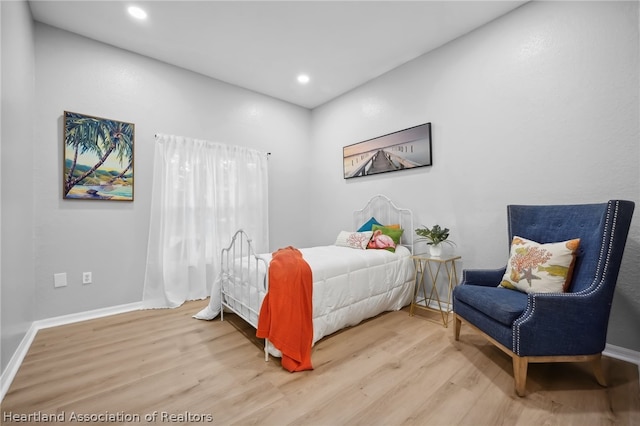
[[[313,370],[312,288],[311,268],[298,249],[273,253],[256,336],[271,340],[282,352],[282,367],[291,372]]]

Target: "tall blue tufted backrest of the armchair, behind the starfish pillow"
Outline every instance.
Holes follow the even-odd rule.
[[[610,200],[601,204],[507,206],[509,244],[514,236],[538,243],[580,238],[569,289],[572,293],[596,288],[609,293],[618,278],[635,205]]]

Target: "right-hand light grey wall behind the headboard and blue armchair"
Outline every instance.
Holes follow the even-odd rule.
[[[314,110],[310,243],[384,193],[452,228],[463,267],[494,268],[507,204],[638,203],[638,51],[637,2],[527,3]],[[433,167],[342,178],[343,146],[424,122]],[[636,212],[609,328],[636,351],[639,253]]]

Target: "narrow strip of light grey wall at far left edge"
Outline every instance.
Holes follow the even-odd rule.
[[[4,371],[34,320],[33,24],[26,2],[1,2],[2,157],[0,287]]]

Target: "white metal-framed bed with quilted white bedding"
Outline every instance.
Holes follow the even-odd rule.
[[[360,241],[354,244],[353,237],[362,239],[361,234],[373,235],[373,229],[361,229],[371,224],[373,218],[378,224],[404,230],[395,252],[384,248],[359,249],[362,248]],[[382,312],[399,310],[411,302],[414,289],[412,212],[397,207],[384,195],[376,195],[362,209],[353,212],[353,226],[353,231],[336,232],[338,237],[333,245],[299,249],[313,276],[312,346],[340,329]],[[373,228],[378,233],[381,229],[380,226]],[[358,230],[362,232],[354,232]],[[364,247],[366,245],[365,241]],[[254,253],[246,232],[235,233],[229,246],[222,250],[221,320],[226,310],[258,328],[260,308],[269,289],[271,257],[271,253]],[[265,339],[265,361],[269,354],[281,356],[279,349]]]

